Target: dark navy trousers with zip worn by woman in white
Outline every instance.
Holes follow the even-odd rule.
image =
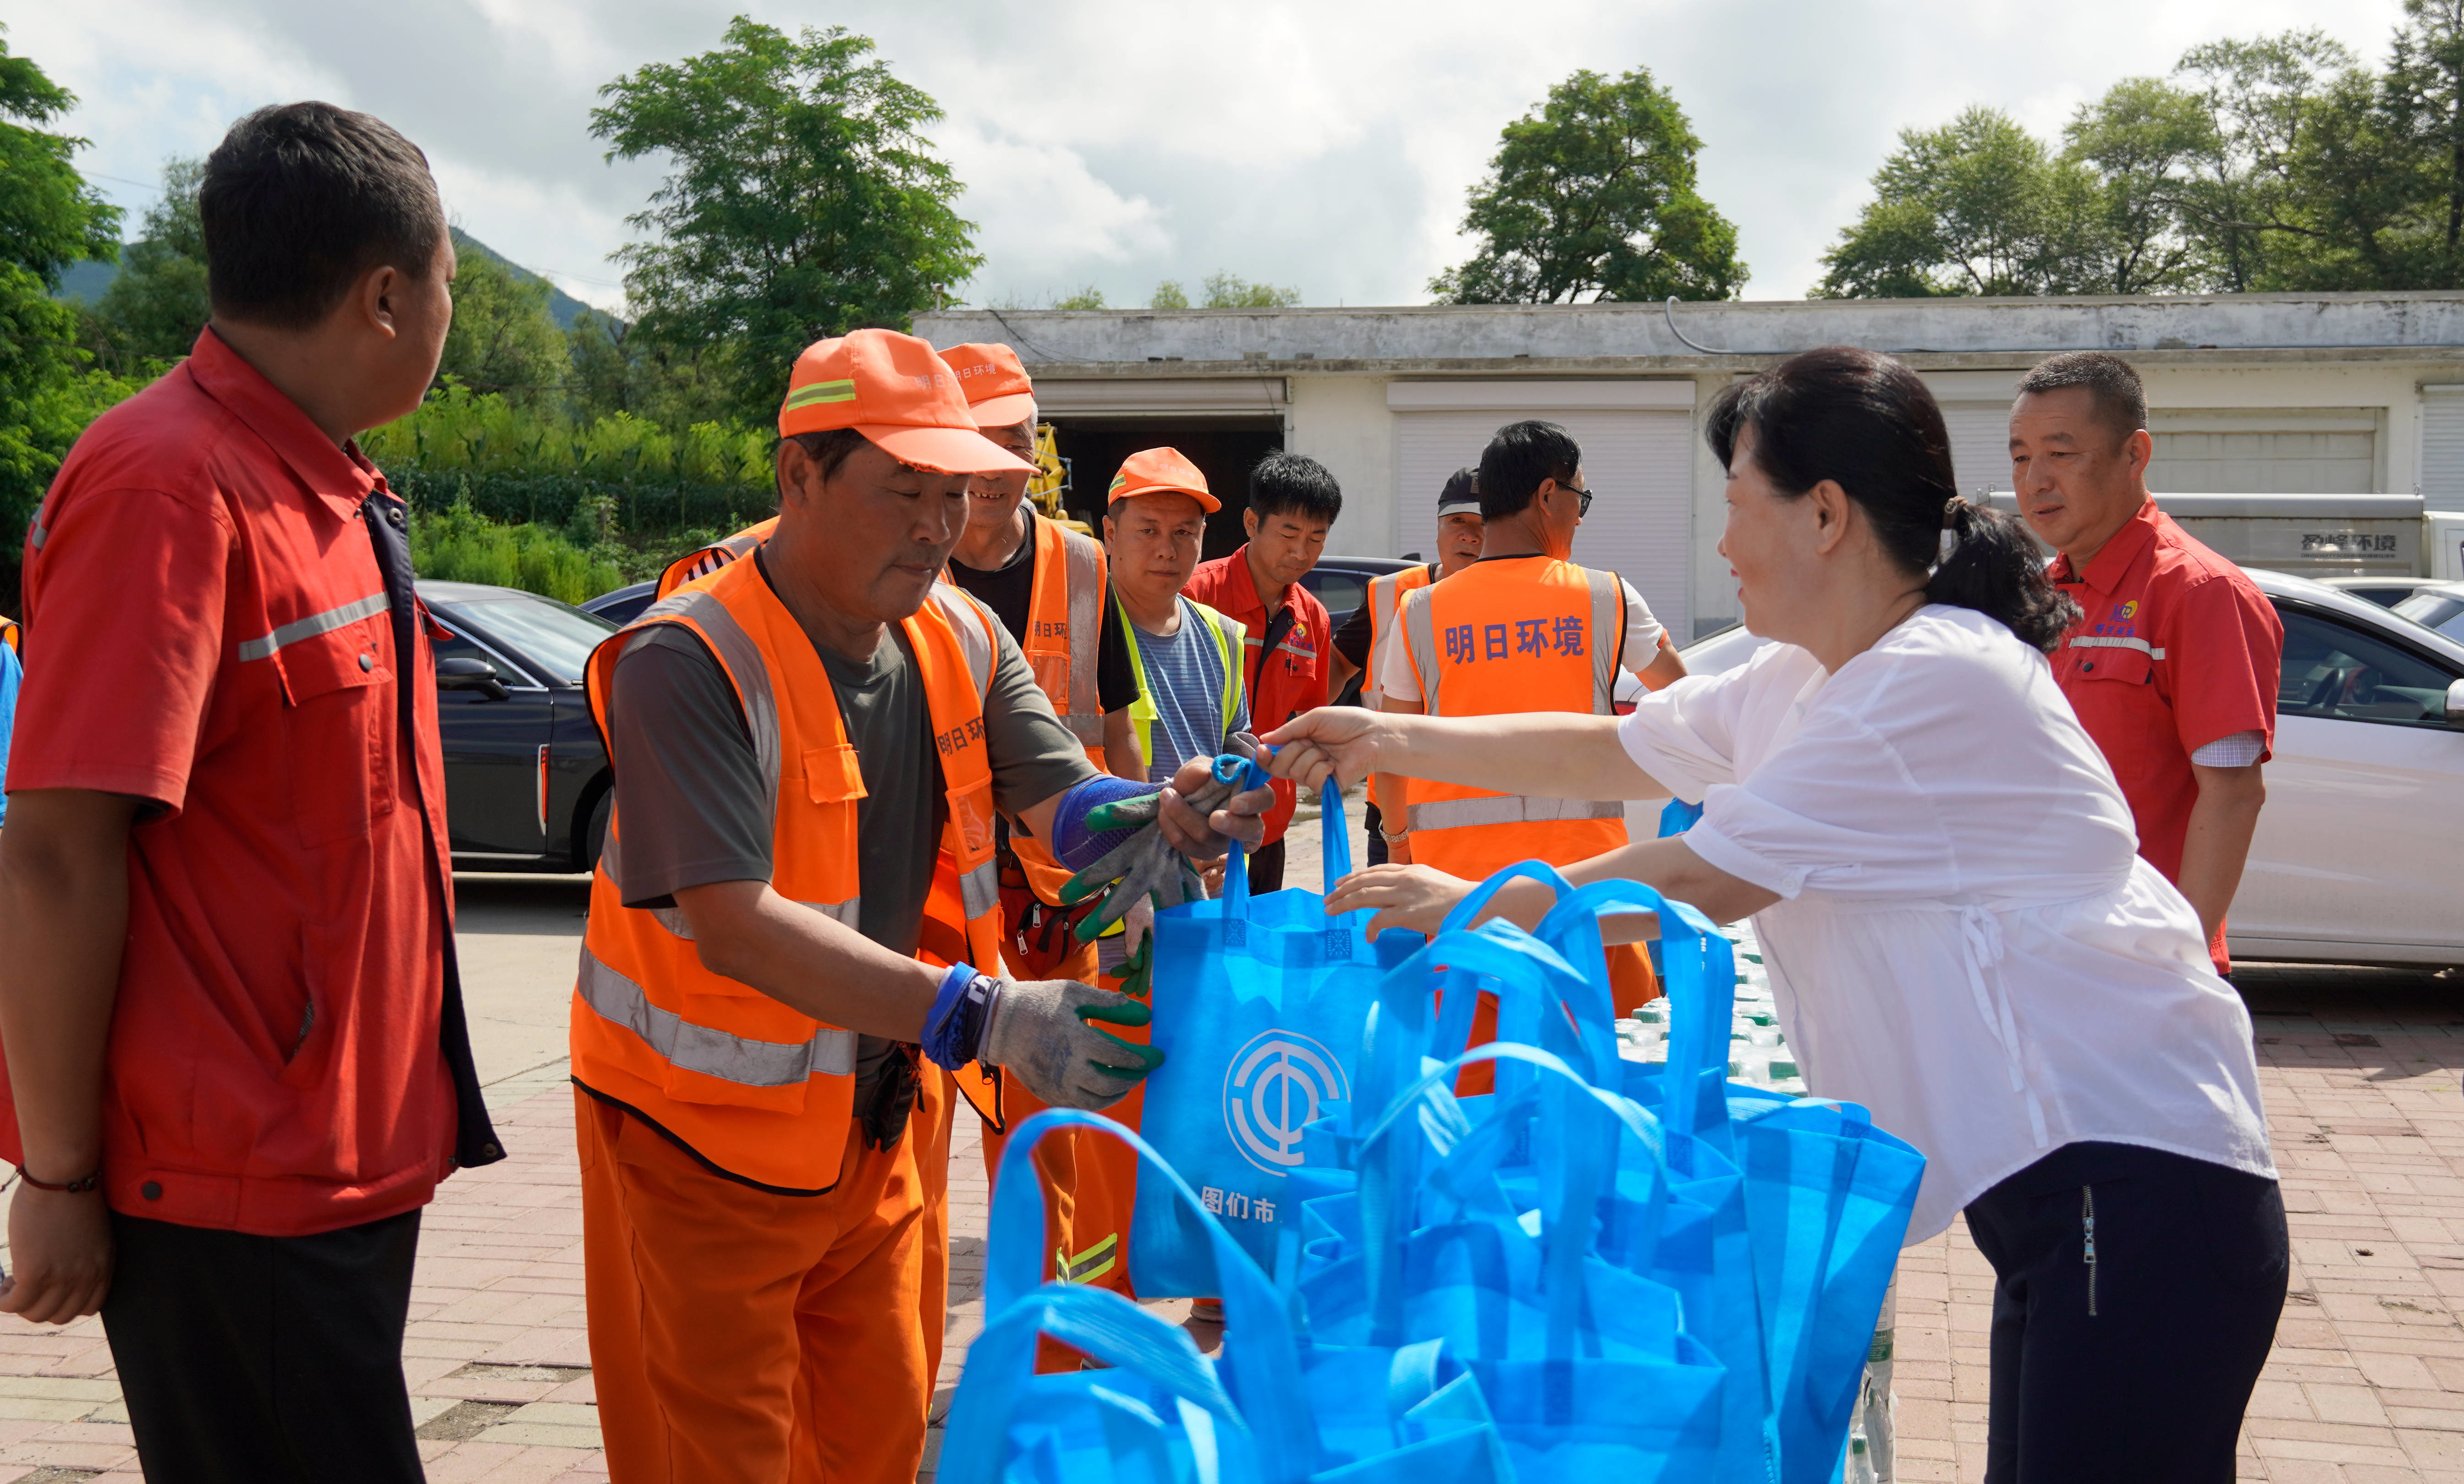
[[[1996,1277],[1986,1484],[2232,1484],[2284,1309],[2274,1181],[2067,1144],[1979,1196],[1969,1233]]]

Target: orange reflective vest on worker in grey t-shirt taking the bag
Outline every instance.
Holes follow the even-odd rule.
[[[591,653],[586,683],[601,737],[616,658],[626,636],[648,624],[690,629],[737,690],[754,752],[776,777],[771,890],[855,927],[862,902],[855,811],[865,777],[813,641],[759,567],[729,562],[660,599]],[[968,594],[934,587],[931,601],[904,624],[949,789],[917,956],[998,971],[1000,883],[983,735],[998,621]],[[621,880],[618,811],[609,816],[591,873],[572,1008],[574,1080],[628,1104],[732,1176],[791,1196],[833,1188],[855,1117],[855,1033],[712,974],[692,947],[685,915],[626,907]],[[998,1075],[966,1067],[958,1087],[1000,1127]]]

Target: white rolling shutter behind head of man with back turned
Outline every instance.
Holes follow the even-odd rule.
[[[1683,643],[1693,614],[1693,414],[1688,412],[1397,412],[1395,491],[1402,550],[1429,550],[1446,476],[1481,461],[1498,426],[1545,417],[1582,444],[1597,491],[1574,560],[1634,584]]]

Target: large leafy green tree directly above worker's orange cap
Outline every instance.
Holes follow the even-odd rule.
[[[616,256],[643,350],[692,360],[744,422],[779,404],[811,340],[907,328],[954,303],[983,256],[958,180],[919,131],[941,108],[843,27],[796,37],[737,17],[727,44],[599,89],[611,160],[670,173]]]

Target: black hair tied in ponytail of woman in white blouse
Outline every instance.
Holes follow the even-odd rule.
[[[1786,498],[1838,481],[1882,550],[1924,577],[1927,601],[1976,609],[2053,651],[2080,606],[2045,579],[2016,515],[1959,498],[1951,434],[1924,380],[1875,350],[1826,345],[1712,397],[1705,436],[1722,466],[1754,429],[1754,466]]]

